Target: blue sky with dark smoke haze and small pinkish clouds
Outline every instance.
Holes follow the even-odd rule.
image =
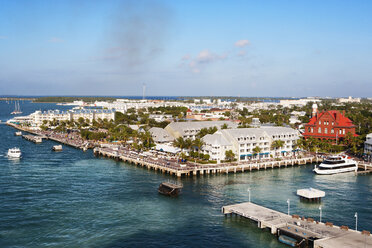
[[[0,0],[0,95],[372,97],[371,1]]]

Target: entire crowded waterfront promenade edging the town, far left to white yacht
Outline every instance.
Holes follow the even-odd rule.
[[[273,168],[282,168],[295,165],[305,165],[311,163],[320,163],[323,159],[316,154],[302,153],[301,156],[281,157],[280,159],[258,159],[251,161],[239,161],[220,164],[199,164],[188,161],[181,163],[180,159],[174,155],[159,155],[156,151],[137,152],[129,147],[119,145],[108,145],[101,147],[98,142],[91,142],[81,138],[79,132],[59,133],[55,131],[31,130],[27,127],[21,127],[16,124],[7,123],[21,131],[25,131],[44,139],[50,139],[65,145],[72,146],[77,149],[87,150],[94,148],[93,152],[97,156],[109,157],[116,160],[121,160],[127,163],[132,163],[151,169],[161,171],[173,176],[196,176],[204,174],[229,174],[238,172],[249,172],[252,170],[266,170]],[[359,161],[358,174],[366,174],[372,172],[372,165]]]

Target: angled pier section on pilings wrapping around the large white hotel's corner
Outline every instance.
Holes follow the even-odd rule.
[[[170,161],[165,159],[157,159],[153,157],[142,157],[141,154],[134,154],[128,150],[113,150],[110,148],[96,147],[93,150],[96,156],[104,156],[116,160],[124,161],[127,163],[135,164],[145,167],[149,170],[161,171],[177,177],[182,176],[196,176],[196,175],[209,175],[209,174],[229,174],[238,172],[250,172],[252,170],[266,170],[274,168],[283,168],[295,165],[305,165],[308,163],[319,162],[315,156],[284,159],[280,161],[255,161],[255,162],[234,162],[223,164],[195,164],[184,165],[178,161]]]

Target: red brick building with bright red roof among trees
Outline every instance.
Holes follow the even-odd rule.
[[[313,137],[318,139],[339,139],[345,137],[347,133],[355,134],[355,125],[345,117],[345,111],[341,114],[337,110],[329,110],[318,113],[313,112],[313,117],[305,125],[305,138]]]

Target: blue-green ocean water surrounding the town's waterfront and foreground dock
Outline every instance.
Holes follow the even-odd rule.
[[[25,114],[54,104],[21,103]],[[66,107],[62,107],[66,108]],[[0,101],[0,119],[14,105]],[[296,190],[326,191],[323,221],[372,231],[372,175],[318,176],[312,165],[243,174],[182,178],[178,198],[159,195],[172,177],[123,162],[95,158],[56,143],[34,144],[0,125],[0,247],[287,247],[221,207],[251,200],[282,212],[319,219],[319,204],[300,202]],[[23,157],[10,160],[8,148]],[[173,178],[174,179],[174,178]]]

